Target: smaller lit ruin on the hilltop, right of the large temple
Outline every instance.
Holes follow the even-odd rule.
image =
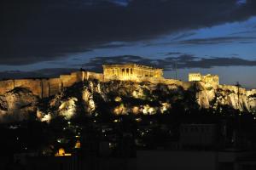
[[[189,82],[206,82],[212,85],[218,85],[218,75],[201,75],[201,73],[189,73]]]

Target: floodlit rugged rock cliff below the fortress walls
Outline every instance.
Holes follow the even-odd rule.
[[[218,109],[223,105],[240,111],[256,111],[256,90],[247,91],[235,86],[214,85],[204,82],[179,82],[154,84],[150,82],[99,82],[86,80],[51,99],[38,100],[26,88],[15,88],[0,96],[1,120],[37,113],[42,121],[54,116],[70,119],[76,114],[139,114],[165,113],[174,107],[189,110],[199,108]]]

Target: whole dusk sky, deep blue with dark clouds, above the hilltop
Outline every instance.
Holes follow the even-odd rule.
[[[131,63],[256,88],[255,0],[2,0],[0,78]]]

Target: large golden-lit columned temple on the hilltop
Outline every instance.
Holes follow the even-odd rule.
[[[137,64],[103,65],[103,75],[107,79],[140,81],[148,78],[162,78],[163,70]]]

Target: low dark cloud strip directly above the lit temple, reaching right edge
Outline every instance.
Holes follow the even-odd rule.
[[[177,68],[212,68],[215,66],[256,66],[256,60],[241,59],[238,57],[212,57],[198,58],[192,54],[180,54],[177,57],[166,57],[165,59],[148,59],[133,55],[96,57],[90,59],[83,65],[85,70],[102,72],[102,65],[137,63],[170,71],[177,65]]]

